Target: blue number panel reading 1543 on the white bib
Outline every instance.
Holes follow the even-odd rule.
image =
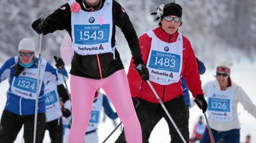
[[[74,25],[75,44],[93,45],[109,42],[110,24]]]

